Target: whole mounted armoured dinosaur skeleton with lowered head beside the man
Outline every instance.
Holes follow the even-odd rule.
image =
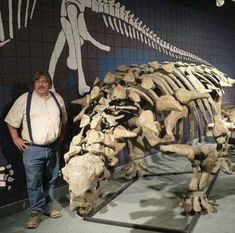
[[[64,155],[63,177],[69,184],[71,209],[80,215],[91,213],[110,172],[118,162],[118,152],[126,145],[130,162],[123,168],[128,177],[142,176],[149,168],[144,151],[161,146],[192,163],[193,176],[186,211],[214,210],[204,188],[208,177],[222,168],[231,173],[227,158],[228,129],[221,120],[223,88],[235,80],[215,68],[183,62],[154,61],[145,65],[121,65],[95,80],[89,94],[72,101],[82,106],[74,118],[80,131]],[[194,131],[201,137],[214,122],[216,147],[162,145],[181,143],[184,121],[189,142]],[[84,171],[84,172],[81,172]]]

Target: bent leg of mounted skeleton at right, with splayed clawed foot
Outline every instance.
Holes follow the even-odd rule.
[[[204,190],[218,158],[217,150],[211,147],[182,144],[161,146],[160,150],[185,156],[192,163],[192,178],[188,186],[188,194],[181,203],[185,212],[215,211],[214,203],[207,199]]]

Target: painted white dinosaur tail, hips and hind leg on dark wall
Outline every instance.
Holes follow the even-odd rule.
[[[125,6],[121,6],[121,4],[115,0],[62,0],[62,30],[58,35],[52,52],[49,73],[51,77],[54,78],[56,64],[67,42],[69,46],[67,66],[78,72],[78,92],[80,95],[90,90],[90,87],[86,84],[82,67],[81,46],[84,44],[84,41],[90,41],[101,50],[110,51],[109,46],[101,44],[89,33],[84,17],[86,8],[101,13],[106,27],[127,37],[141,40],[142,43],[145,43],[160,53],[164,53],[178,60],[210,65],[196,55],[177,48],[161,39],[157,33],[150,30],[138,17],[135,17],[134,14],[125,9]]]

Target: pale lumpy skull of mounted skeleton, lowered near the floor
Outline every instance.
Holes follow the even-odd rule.
[[[76,156],[71,158],[62,173],[69,184],[71,210],[81,216],[92,213],[110,176],[104,161],[93,154]]]

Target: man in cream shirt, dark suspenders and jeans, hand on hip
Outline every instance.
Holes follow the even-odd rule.
[[[14,144],[23,152],[30,202],[27,228],[37,228],[42,214],[62,216],[52,204],[67,113],[62,97],[49,91],[51,86],[48,72],[36,72],[33,91],[21,95],[5,118]]]

